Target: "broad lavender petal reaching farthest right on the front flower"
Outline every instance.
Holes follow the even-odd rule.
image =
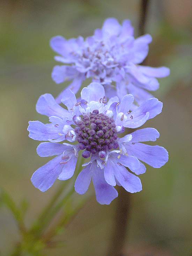
[[[167,150],[158,145],[150,146],[137,142],[134,145],[129,143],[126,148],[127,152],[131,151],[139,160],[154,168],[160,168],[168,161]]]

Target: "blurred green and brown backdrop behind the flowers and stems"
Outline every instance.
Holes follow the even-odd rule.
[[[27,227],[63,182],[56,181],[42,193],[30,181],[47,159],[36,154],[39,142],[28,137],[28,121],[47,122],[36,113],[37,99],[44,93],[56,97],[67,85],[57,85],[51,79],[58,63],[49,47],[50,38],[87,37],[109,17],[120,23],[131,19],[137,37],[139,14],[138,0],[0,1],[0,185],[17,205],[23,198],[29,201]],[[153,37],[146,64],[164,65],[171,72],[159,79],[160,89],[154,93],[163,102],[162,113],[143,127],[160,132],[154,144],[168,150],[169,161],[160,169],[147,166],[146,173],[140,175],[143,190],[131,196],[124,251],[130,256],[191,256],[192,1],[151,0],[146,33]],[[105,255],[116,202],[102,206],[93,196],[58,235],[66,246],[44,250],[44,254]],[[17,241],[20,235],[15,220],[1,206],[2,256],[8,255]]]

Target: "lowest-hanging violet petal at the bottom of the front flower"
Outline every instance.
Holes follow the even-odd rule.
[[[117,190],[105,181],[104,171],[97,167],[96,161],[91,165],[91,171],[93,171],[92,180],[97,202],[101,205],[109,205],[118,196]]]

